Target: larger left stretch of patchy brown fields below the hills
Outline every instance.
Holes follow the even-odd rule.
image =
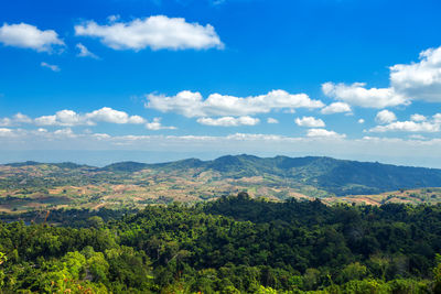
[[[280,200],[290,197],[312,199],[288,186],[276,186],[263,177],[215,179],[216,174],[205,173],[196,177],[158,174],[141,171],[125,184],[61,185],[49,188],[22,187],[0,190],[0,209],[7,213],[62,207],[142,207],[149,204],[171,202],[196,203],[223,195],[247,190],[251,197]],[[270,184],[270,185],[269,185]],[[50,200],[47,200],[50,199]],[[55,199],[58,199],[55,200]]]

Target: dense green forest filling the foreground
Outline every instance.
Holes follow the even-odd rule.
[[[441,293],[441,205],[240,193],[138,213],[51,214],[57,226],[0,222],[2,293]]]

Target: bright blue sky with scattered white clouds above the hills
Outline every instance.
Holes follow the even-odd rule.
[[[441,3],[0,3],[0,163],[324,155],[441,168]]]

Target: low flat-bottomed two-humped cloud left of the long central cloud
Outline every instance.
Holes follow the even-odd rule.
[[[104,107],[101,109],[79,115],[73,110],[61,110],[53,116],[43,116],[34,119],[37,126],[94,126],[96,122],[109,122],[109,123],[135,123],[141,124],[146,120],[139,116],[129,116],[125,111]]]

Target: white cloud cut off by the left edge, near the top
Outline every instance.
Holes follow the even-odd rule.
[[[65,45],[55,31],[41,31],[26,23],[4,23],[0,28],[0,43],[6,46],[32,48],[37,52],[52,52],[55,46]]]

